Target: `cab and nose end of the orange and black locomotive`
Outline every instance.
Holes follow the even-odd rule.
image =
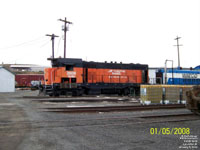
[[[80,59],[51,59],[52,68],[45,69],[45,89],[50,96],[75,93],[77,83],[82,83]]]

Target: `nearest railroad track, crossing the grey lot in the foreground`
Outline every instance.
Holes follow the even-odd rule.
[[[16,130],[40,130],[57,128],[79,128],[79,127],[106,127],[106,126],[124,126],[136,124],[155,124],[166,122],[184,122],[199,120],[200,117],[192,113],[172,113],[165,115],[147,115],[147,116],[120,116],[120,117],[97,117],[97,118],[76,118],[66,120],[34,120],[34,121],[16,121],[1,122],[0,133]],[[13,126],[14,125],[14,126]],[[29,126],[29,127],[28,127]],[[3,129],[3,130],[1,130]]]

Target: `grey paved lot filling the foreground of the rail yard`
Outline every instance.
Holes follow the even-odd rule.
[[[52,113],[41,111],[40,108],[44,107],[45,103],[22,98],[22,96],[31,95],[37,95],[37,91],[0,94],[0,150],[177,150],[185,149],[184,144],[188,144],[180,139],[182,135],[174,135],[174,133],[151,135],[151,128],[158,130],[160,128],[189,128],[189,136],[197,136],[197,142],[189,142],[190,146],[197,144],[198,148],[193,147],[193,149],[200,148],[198,139],[200,120],[198,118],[163,122],[148,118],[144,121],[144,118],[142,120],[138,117],[188,113],[186,109],[81,114]],[[70,105],[69,103],[62,104]]]

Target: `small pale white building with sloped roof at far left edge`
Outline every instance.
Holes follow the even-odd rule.
[[[15,74],[0,66],[0,92],[15,92]]]

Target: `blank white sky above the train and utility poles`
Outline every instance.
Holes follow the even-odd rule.
[[[179,36],[181,66],[200,65],[199,0],[2,0],[0,64],[50,66],[52,33],[63,57],[65,17],[67,58],[177,67]]]

